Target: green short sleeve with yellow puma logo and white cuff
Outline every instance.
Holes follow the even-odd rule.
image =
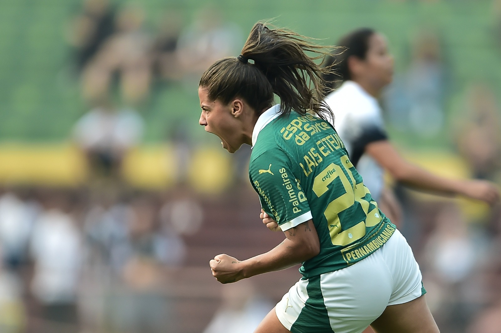
[[[312,218],[310,206],[287,154],[280,148],[263,152],[249,165],[249,177],[261,206],[282,231]]]

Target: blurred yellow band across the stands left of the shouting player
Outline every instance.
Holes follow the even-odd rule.
[[[221,192],[231,182],[230,155],[220,148],[196,148],[187,164],[180,165],[169,144],[144,145],[125,156],[122,172],[130,185],[153,190],[173,185],[181,174],[202,193]],[[78,186],[88,174],[85,156],[69,143],[0,144],[0,184]]]

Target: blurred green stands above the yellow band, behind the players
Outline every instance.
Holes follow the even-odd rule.
[[[125,1],[123,1],[125,2]],[[120,4],[121,1],[116,1]],[[245,34],[260,19],[321,38],[333,44],[347,31],[370,26],[383,32],[395,55],[396,72],[409,62],[409,40],[420,29],[435,31],[449,66],[446,114],[458,115],[463,94],[472,81],[487,82],[501,92],[500,52],[492,1],[376,1],[376,0],[253,0],[198,1],[144,0],[146,29],[154,31],[165,11],[175,9],[182,24],[189,24],[204,5],[215,6],[226,21],[236,23]],[[61,141],[68,138],[75,121],[89,109],[72,74],[72,47],[66,42],[70,19],[81,8],[79,0],[0,1],[0,139],[15,141]],[[243,40],[242,40],[243,42]],[[179,82],[156,84],[140,112],[146,122],[146,142],[169,136],[169,123],[183,119],[190,135],[199,139],[198,101],[193,90]],[[449,126],[429,138],[392,135],[404,146],[447,146]],[[416,141],[417,139],[417,141]],[[417,144],[416,144],[417,143]]]

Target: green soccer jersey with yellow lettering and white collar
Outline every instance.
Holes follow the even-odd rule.
[[[249,177],[263,209],[283,231],[313,219],[320,253],[303,262],[304,278],[344,268],[373,253],[395,231],[350,162],[334,128],[280,105],[254,128]]]

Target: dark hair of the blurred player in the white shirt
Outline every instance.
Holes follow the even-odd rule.
[[[334,69],[324,76],[324,80],[331,82],[331,85],[324,90],[325,95],[344,81],[352,79],[348,68],[348,58],[355,56],[360,60],[365,60],[369,50],[369,39],[374,33],[376,31],[371,28],[360,28],[350,32],[338,41],[337,46],[343,51],[334,50],[325,61],[326,66]]]

